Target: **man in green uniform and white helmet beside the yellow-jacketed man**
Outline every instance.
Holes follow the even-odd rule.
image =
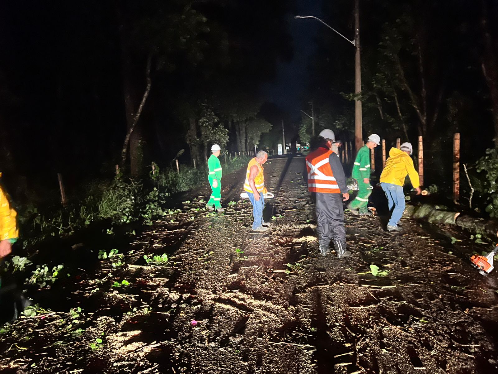
[[[358,195],[351,201],[348,208],[355,215],[368,214],[369,196],[372,193],[370,185],[370,150],[380,144],[380,137],[377,134],[372,134],[367,141],[367,144],[360,148],[356,155],[355,165],[351,177],[358,182]]]

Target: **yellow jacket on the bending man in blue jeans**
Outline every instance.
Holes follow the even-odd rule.
[[[406,176],[410,177],[413,188],[420,187],[418,173],[413,167],[413,160],[404,151],[391,148],[389,158],[385,162],[385,168],[380,175],[380,183],[403,186]]]

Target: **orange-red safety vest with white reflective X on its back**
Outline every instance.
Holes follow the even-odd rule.
[[[306,157],[308,170],[308,190],[310,192],[341,193],[330,167],[329,157],[332,151],[318,148]]]

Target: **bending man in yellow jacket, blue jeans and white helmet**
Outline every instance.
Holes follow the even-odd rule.
[[[389,211],[392,210],[391,218],[387,223],[387,231],[401,231],[398,223],[405,208],[403,185],[407,175],[410,177],[413,188],[417,190],[417,195],[422,193],[420,179],[410,157],[412,153],[413,148],[410,143],[401,144],[400,149],[391,148],[385,168],[380,175],[380,186],[387,197]]]

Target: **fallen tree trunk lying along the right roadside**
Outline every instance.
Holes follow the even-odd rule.
[[[430,204],[407,205],[403,217],[424,219],[430,223],[452,224],[491,237],[498,237],[498,221],[496,220],[461,215],[460,212],[455,211],[439,210]]]

